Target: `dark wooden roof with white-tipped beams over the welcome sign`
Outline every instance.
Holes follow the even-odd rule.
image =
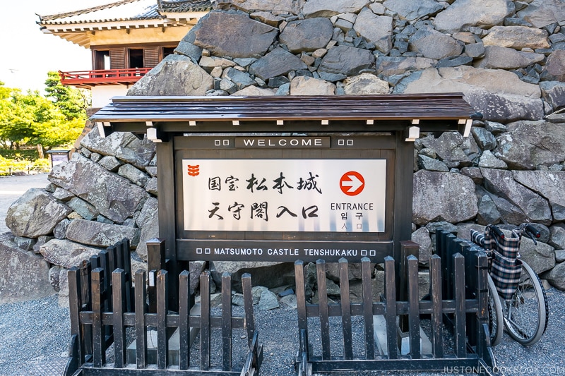
[[[308,131],[393,131],[407,124],[422,131],[465,129],[468,133],[472,119],[480,119],[480,114],[475,114],[461,93],[114,97],[90,119],[116,131],[136,133],[145,133],[148,126],[164,132],[233,131],[233,125],[253,131],[294,132],[305,131],[304,127]]]

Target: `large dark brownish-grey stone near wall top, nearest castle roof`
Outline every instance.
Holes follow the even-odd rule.
[[[191,32],[194,44],[214,56],[246,58],[263,56],[275,41],[278,28],[251,20],[241,11],[212,11]]]

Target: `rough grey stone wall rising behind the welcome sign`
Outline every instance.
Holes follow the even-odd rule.
[[[471,226],[533,222],[541,242],[525,239],[521,254],[565,289],[564,1],[215,6],[129,95],[463,92],[484,114],[472,135],[424,134],[415,144],[412,238],[422,264],[440,226],[465,238]],[[54,267],[121,236],[144,260],[143,242],[156,234],[155,148],[131,134],[96,132],[54,169],[47,190],[26,193],[6,219],[16,240]],[[33,219],[45,218],[44,205],[52,207],[49,224]]]

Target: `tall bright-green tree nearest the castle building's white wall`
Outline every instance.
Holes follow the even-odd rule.
[[[90,95],[85,90],[79,90],[61,83],[57,72],[47,73],[45,81],[47,98],[52,99],[66,119],[86,119],[86,109],[90,107]]]

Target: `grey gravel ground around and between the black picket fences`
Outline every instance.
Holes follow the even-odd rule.
[[[549,326],[542,339],[525,348],[507,334],[494,353],[499,375],[565,375],[565,292],[550,289]],[[296,311],[282,306],[256,310],[256,327],[263,344],[262,375],[295,375],[297,351]],[[355,327],[355,325],[354,325]],[[314,330],[311,331],[314,333]],[[340,332],[333,331],[333,343]],[[237,338],[237,337],[236,337]],[[361,334],[356,336],[362,338]],[[69,341],[69,310],[57,305],[57,297],[0,305],[0,375],[61,375]],[[316,340],[311,339],[316,345]],[[316,351],[316,349],[314,349]],[[234,352],[234,358],[236,357]],[[467,371],[467,372],[465,372]],[[405,372],[350,372],[350,375],[405,375]],[[444,372],[413,375],[475,375],[470,370],[448,368]],[[334,374],[334,375],[337,375]]]

